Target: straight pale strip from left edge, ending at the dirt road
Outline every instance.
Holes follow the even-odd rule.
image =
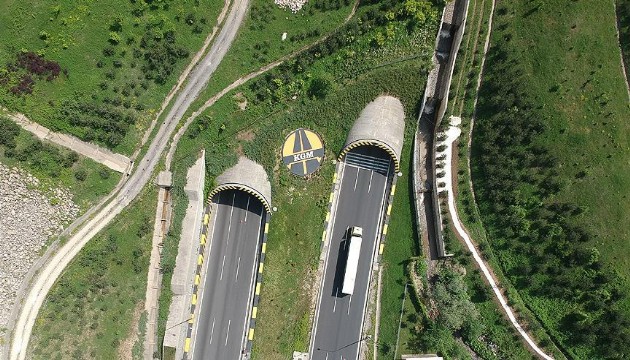
[[[111,152],[109,149],[82,141],[71,135],[51,131],[48,128],[29,120],[26,116],[24,116],[24,114],[11,114],[7,109],[2,107],[0,107],[0,111],[5,113],[7,117],[13,120],[16,124],[20,125],[22,129],[37,136],[39,139],[50,141],[54,144],[75,151],[96,161],[97,163],[107,166],[114,171],[125,173],[131,166],[131,161],[125,155],[116,154]]]

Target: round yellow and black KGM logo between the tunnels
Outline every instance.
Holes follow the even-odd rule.
[[[324,160],[324,143],[311,130],[297,129],[291,132],[282,146],[282,161],[298,176],[314,173]]]

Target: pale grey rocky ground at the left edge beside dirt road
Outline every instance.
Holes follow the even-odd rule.
[[[24,276],[46,241],[78,214],[67,190],[0,164],[0,347]]]

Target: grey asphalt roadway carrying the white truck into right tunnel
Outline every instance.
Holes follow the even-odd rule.
[[[340,179],[339,197],[331,223],[329,254],[324,270],[323,287],[315,319],[312,360],[356,360],[359,356],[368,284],[381,235],[386,194],[389,194],[389,172],[393,166],[384,151],[372,147],[357,149],[365,159],[374,157],[379,171],[362,161],[346,162]],[[355,150],[350,152],[353,154]],[[360,167],[357,167],[360,166]],[[348,228],[363,228],[361,254],[353,295],[341,293],[347,259]]]

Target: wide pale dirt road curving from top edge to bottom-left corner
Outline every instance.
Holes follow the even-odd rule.
[[[100,230],[110,223],[116,215],[126,208],[140,193],[152,177],[166,145],[179,121],[190,105],[210,80],[210,76],[230,48],[232,41],[243,21],[249,0],[235,0],[221,32],[212,47],[190,74],[184,90],[177,96],[173,107],[168,112],[164,122],[160,125],[156,136],[152,139],[147,153],[138,161],[134,172],[126,180],[115,198],[102,210],[96,213],[90,221],[78,228],[76,233],[55,253],[34,278],[23,301],[16,301],[16,313],[19,311],[11,337],[9,359],[23,360],[26,357],[28,345],[35,319],[39,313],[46,295],[61,276],[63,270],[79,253],[79,251]],[[20,307],[21,306],[21,307]]]

